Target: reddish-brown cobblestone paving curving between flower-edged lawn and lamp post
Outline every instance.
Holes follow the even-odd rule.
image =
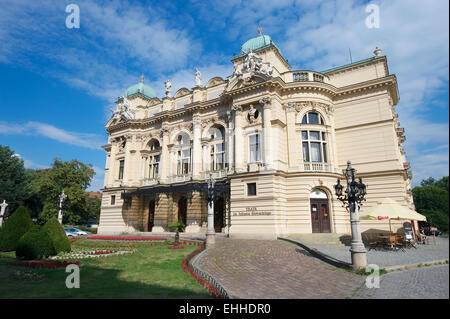
[[[280,240],[217,238],[198,266],[234,298],[339,299],[351,297],[365,281]]]

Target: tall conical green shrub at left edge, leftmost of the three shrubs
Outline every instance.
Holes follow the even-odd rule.
[[[0,233],[0,250],[12,251],[19,239],[33,226],[28,210],[21,206],[4,222]]]

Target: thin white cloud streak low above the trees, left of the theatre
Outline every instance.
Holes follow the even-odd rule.
[[[96,150],[104,144],[103,137],[96,134],[70,132],[50,124],[32,121],[25,124],[0,122],[0,134],[44,136],[61,143]]]

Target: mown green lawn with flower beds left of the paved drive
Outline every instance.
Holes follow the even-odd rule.
[[[91,244],[79,240],[76,244]],[[76,245],[75,244],[75,245]],[[98,242],[98,245],[117,243]],[[132,243],[121,243],[128,245]],[[93,248],[72,248],[89,250]],[[94,244],[95,245],[95,244]],[[137,244],[139,245],[139,244]],[[182,260],[196,246],[168,249],[167,245],[139,248],[131,255],[82,259],[80,288],[65,285],[69,273],[65,269],[41,269],[10,266],[16,261],[15,253],[0,254],[0,298],[210,298],[207,291],[185,273]],[[12,278],[14,270],[21,269],[44,274],[38,282],[23,282]]]

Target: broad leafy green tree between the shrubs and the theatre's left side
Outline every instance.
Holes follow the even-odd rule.
[[[39,223],[58,215],[59,195],[67,195],[63,223],[79,224],[89,218],[88,194],[95,172],[92,165],[77,160],[63,162],[55,159],[52,166],[32,174],[30,187],[35,202],[40,203]]]

